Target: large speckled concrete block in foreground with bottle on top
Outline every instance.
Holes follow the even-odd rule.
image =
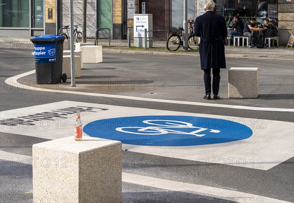
[[[35,203],[122,201],[120,141],[64,137],[34,144],[33,160]]]

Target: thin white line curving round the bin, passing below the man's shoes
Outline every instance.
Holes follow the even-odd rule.
[[[20,84],[17,82],[19,78],[25,77],[27,75],[33,74],[35,70],[28,71],[26,73],[16,75],[5,80],[5,83],[17,88],[28,89],[26,85]],[[77,85],[78,88],[78,85]],[[131,99],[139,101],[150,101],[150,102],[161,102],[161,103],[172,103],[172,104],[187,104],[194,106],[208,106],[208,107],[220,107],[220,108],[230,108],[230,109],[243,109],[243,110],[252,110],[252,111],[269,111],[269,112],[294,112],[294,109],[283,109],[283,108],[264,108],[264,107],[248,107],[248,106],[235,106],[235,105],[226,105],[226,104],[211,104],[211,103],[200,103],[200,102],[188,102],[188,101],[176,101],[176,100],[166,100],[166,99],[151,99],[143,97],[133,97],[133,96],[123,96],[123,95],[112,95],[112,94],[100,94],[100,93],[88,93],[88,92],[79,92],[79,91],[68,91],[68,90],[49,90],[43,88],[33,87],[33,90],[38,91],[48,91],[48,92],[58,92],[58,93],[67,93],[67,94],[79,94],[87,96],[99,96],[99,97],[108,97],[108,98],[120,98],[120,99]]]

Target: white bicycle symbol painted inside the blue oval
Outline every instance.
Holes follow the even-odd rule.
[[[155,122],[155,123],[154,123]],[[119,127],[116,128],[117,131],[136,135],[164,135],[164,134],[183,134],[183,135],[195,135],[197,137],[202,137],[206,134],[198,134],[203,131],[209,131],[210,133],[220,133],[219,130],[213,130],[208,128],[201,128],[193,126],[192,123],[187,123],[183,121],[176,120],[144,120],[143,123],[152,125],[147,127]],[[161,123],[161,124],[159,124]],[[191,132],[182,132],[179,130],[172,129],[193,129]],[[138,132],[131,131],[131,129],[137,129]],[[197,130],[195,130],[197,129]]]

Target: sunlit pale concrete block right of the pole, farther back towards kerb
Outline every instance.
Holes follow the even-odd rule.
[[[81,46],[83,63],[97,64],[102,62],[102,46]]]

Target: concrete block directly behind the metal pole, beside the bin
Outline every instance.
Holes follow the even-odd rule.
[[[63,56],[62,74],[66,73],[67,78],[72,78],[71,73],[71,56]],[[74,77],[81,77],[81,57],[74,56]]]

